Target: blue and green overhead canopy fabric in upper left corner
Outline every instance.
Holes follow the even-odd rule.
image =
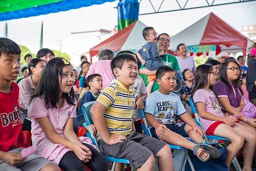
[[[0,21],[38,16],[115,0],[1,0]]]

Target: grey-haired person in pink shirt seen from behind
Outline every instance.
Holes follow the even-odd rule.
[[[102,91],[114,79],[114,75],[110,67],[111,59],[113,57],[114,54],[111,50],[101,50],[99,52],[99,61],[91,64],[89,71],[85,75],[85,78],[92,74],[102,75],[102,89],[99,91]]]

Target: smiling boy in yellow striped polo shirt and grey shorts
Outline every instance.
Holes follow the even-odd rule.
[[[129,54],[118,55],[111,61],[111,70],[116,79],[102,91],[90,110],[101,152],[127,158],[138,171],[153,171],[155,156],[159,171],[173,171],[169,146],[134,129],[135,95],[131,85],[138,75],[136,59]]]

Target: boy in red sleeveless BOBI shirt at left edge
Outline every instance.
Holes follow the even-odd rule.
[[[22,157],[17,148],[21,130],[19,87],[13,82],[20,71],[20,47],[8,38],[0,38],[0,170],[60,171],[42,157],[31,154]]]

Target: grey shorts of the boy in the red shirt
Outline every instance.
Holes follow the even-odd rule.
[[[8,152],[20,153],[24,148],[16,148]],[[0,171],[40,171],[47,164],[52,164],[49,160],[35,154],[29,155],[23,162],[12,166],[0,160]]]

